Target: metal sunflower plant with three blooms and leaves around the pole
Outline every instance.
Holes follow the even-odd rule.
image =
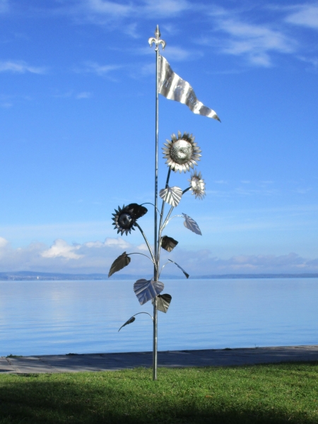
[[[120,271],[125,266],[129,265],[131,262],[130,256],[132,254],[142,254],[143,256],[148,257],[148,259],[152,261],[153,265],[155,266],[155,275],[158,276],[158,280],[160,278],[161,272],[168,264],[175,264],[184,273],[184,276],[186,278],[189,278],[189,274],[187,273],[187,271],[184,271],[184,269],[182,269],[179,264],[177,264],[175,261],[172,261],[171,259],[168,259],[167,262],[163,264],[163,266],[160,268],[160,249],[163,248],[166,252],[172,252],[172,250],[175,249],[175,247],[178,245],[177,240],[175,240],[174,238],[169,237],[167,235],[162,235],[163,229],[167,226],[167,224],[172,218],[183,218],[184,226],[188,230],[191,230],[195,234],[201,235],[199,225],[193,218],[191,218],[187,214],[182,213],[182,215],[171,216],[173,209],[178,206],[179,201],[181,201],[182,199],[182,196],[189,190],[192,191],[192,194],[194,194],[195,198],[204,198],[205,182],[204,179],[202,179],[201,172],[196,172],[196,170],[192,172],[190,179],[188,179],[189,186],[184,190],[182,190],[180,187],[169,186],[171,171],[179,171],[181,173],[188,172],[190,169],[194,169],[194,166],[197,165],[197,162],[201,158],[201,149],[199,148],[199,146],[197,146],[196,143],[194,143],[194,136],[192,136],[192,134],[184,132],[184,134],[182,135],[181,132],[178,131],[177,136],[175,136],[175,134],[172,134],[171,140],[167,140],[167,143],[165,143],[165,147],[163,147],[163,153],[164,158],[166,159],[166,164],[169,169],[167,172],[165,187],[161,189],[159,193],[160,198],[163,199],[163,204],[161,206],[161,212],[158,210],[158,214],[160,213],[160,215],[158,215],[160,218],[160,223],[158,227],[158,245],[156,246],[157,249],[153,250],[147,240],[145,233],[141,229],[139,223],[137,223],[137,220],[139,220],[139,218],[142,218],[147,213],[147,209],[143,205],[135,203],[123,206],[122,208],[118,207],[118,210],[115,209],[115,213],[113,213],[114,218],[112,218],[112,220],[114,221],[114,223],[112,224],[114,225],[114,230],[117,230],[117,233],[120,233],[121,235],[128,235],[128,233],[131,233],[131,230],[135,230],[135,228],[138,228],[141,231],[141,234],[143,235],[150,256],[139,252],[124,252],[113,262],[112,266],[110,267],[109,276],[111,276],[117,271]],[[165,214],[166,204],[170,206],[170,209]],[[166,313],[170,306],[172,298],[167,293],[160,294],[162,293],[163,288],[163,283],[161,283],[160,281],[154,281],[154,279],[147,280],[145,278],[141,278],[137,280],[136,283],[134,283],[134,292],[141,305],[144,305],[146,302],[148,302],[148,300],[152,300],[152,302],[155,302],[155,305],[157,305],[156,307],[159,311]],[[138,314],[141,313],[148,314],[148,312],[139,312]],[[126,326],[127,324],[131,324],[132,322],[134,322],[135,315],[129,318],[129,320],[125,322],[120,327],[120,329],[122,329],[122,327]],[[153,319],[153,317],[151,318]]]

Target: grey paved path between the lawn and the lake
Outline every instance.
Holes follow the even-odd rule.
[[[158,367],[247,365],[308,360],[318,361],[318,346],[158,352]],[[151,364],[151,352],[42,355],[20,358],[2,356],[0,357],[0,373],[115,371],[124,368],[151,367]]]

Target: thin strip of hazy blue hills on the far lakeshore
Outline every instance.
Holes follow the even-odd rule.
[[[146,276],[147,277],[147,276]],[[141,278],[132,274],[122,274],[108,278],[107,274],[70,274],[70,273],[45,273],[34,271],[1,272],[0,281],[87,281],[87,280],[134,280]],[[147,278],[151,278],[148,276]],[[318,273],[255,273],[255,274],[212,274],[206,276],[190,276],[191,280],[220,280],[220,279],[242,279],[242,278],[318,278]],[[161,279],[182,280],[182,276],[167,275]]]

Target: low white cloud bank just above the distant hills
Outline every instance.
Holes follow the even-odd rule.
[[[123,252],[147,254],[146,245],[134,246],[122,237],[107,237],[104,242],[69,244],[57,239],[48,247],[33,242],[27,247],[14,249],[8,240],[0,237],[0,271],[41,271],[61,273],[108,273],[114,259]],[[162,264],[170,258],[190,275],[227,273],[312,273],[318,272],[318,258],[306,259],[295,253],[276,255],[236,255],[223,259],[209,249],[197,251],[176,248],[173,254],[162,254]],[[131,264],[120,273],[131,273],[137,278],[151,275],[153,265],[146,257],[135,254]],[[178,275],[173,264],[163,274]],[[182,273],[180,273],[182,276]]]

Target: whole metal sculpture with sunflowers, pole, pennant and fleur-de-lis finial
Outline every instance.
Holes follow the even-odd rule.
[[[182,215],[172,215],[172,211],[176,206],[179,205],[179,202],[182,199],[182,196],[188,192],[192,191],[196,199],[203,199],[205,196],[205,183],[202,179],[201,172],[192,173],[189,181],[189,187],[182,190],[180,187],[170,187],[170,175],[171,171],[177,172],[189,172],[191,169],[194,169],[194,166],[197,165],[201,158],[201,149],[194,142],[194,136],[187,132],[182,133],[178,131],[177,136],[172,134],[171,139],[167,140],[167,143],[163,147],[163,158],[166,160],[168,167],[167,179],[165,187],[160,190],[159,196],[162,199],[161,211],[158,209],[158,95],[159,93],[164,95],[165,98],[170,100],[176,100],[187,105],[192,112],[196,114],[201,114],[206,117],[211,117],[217,119],[218,115],[213,110],[204,106],[199,100],[197,100],[193,88],[187,83],[187,81],[182,80],[176,73],[172,71],[170,65],[167,63],[165,58],[159,54],[159,47],[162,45],[162,48],[165,48],[165,41],[160,40],[160,31],[157,25],[155,30],[155,37],[149,38],[149,44],[155,45],[155,54],[156,54],[156,84],[155,84],[155,202],[153,204],[155,216],[154,216],[154,243],[153,249],[148,242],[148,239],[141,229],[137,220],[142,218],[148,210],[139,204],[129,204],[118,209],[115,209],[115,213],[112,215],[114,218],[114,230],[117,230],[117,233],[121,235],[128,235],[131,233],[131,230],[139,229],[143,239],[146,242],[150,257],[146,254],[139,252],[134,253],[122,253],[117,259],[114,260],[112,266],[110,267],[110,272],[108,276],[112,276],[113,273],[120,271],[125,266],[128,266],[131,262],[130,256],[132,254],[141,254],[153,263],[153,278],[151,280],[146,280],[145,278],[139,279],[134,283],[134,293],[139,300],[141,305],[144,305],[146,302],[151,300],[153,303],[153,316],[148,314],[148,312],[138,312],[133,315],[131,318],[126,321],[118,331],[120,331],[124,326],[131,324],[135,321],[135,317],[138,314],[148,314],[153,321],[153,380],[157,379],[157,340],[158,340],[158,310],[160,312],[166,313],[170,307],[170,302],[172,300],[171,295],[167,293],[161,294],[164,289],[164,284],[159,281],[160,274],[167,264],[175,264],[183,273],[186,278],[189,278],[189,274],[182,269],[179,264],[171,259],[163,264],[160,269],[160,249],[161,247],[167,252],[172,252],[178,242],[177,240],[169,237],[167,235],[162,235],[164,228],[172,220],[172,218],[181,217],[184,219],[184,226],[188,230],[191,230],[197,235],[202,235],[199,225],[196,221],[190,216],[182,213]],[[165,215],[165,204],[170,206],[169,211]],[[159,219],[159,225],[158,225]]]

